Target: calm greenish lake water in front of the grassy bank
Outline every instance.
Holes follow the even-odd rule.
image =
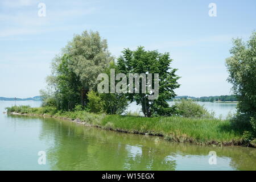
[[[0,101],[0,170],[256,170],[255,148],[177,144],[58,119],[2,114],[13,104]],[[39,151],[46,151],[46,165],[38,164]],[[209,164],[209,151],[216,151],[216,165]]]

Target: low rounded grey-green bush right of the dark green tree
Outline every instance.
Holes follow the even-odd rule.
[[[213,118],[214,114],[209,113],[204,106],[196,104],[192,100],[181,100],[180,102],[175,102],[177,111],[180,116],[187,118]]]

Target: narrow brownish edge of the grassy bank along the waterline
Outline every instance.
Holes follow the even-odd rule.
[[[141,134],[141,135],[151,135],[151,136],[156,136],[156,137],[164,137],[164,139],[169,140],[170,142],[178,142],[178,143],[191,143],[191,144],[197,144],[197,145],[212,145],[212,146],[246,146],[246,147],[256,147],[253,144],[247,144],[245,145],[243,143],[242,138],[238,139],[238,140],[232,140],[232,141],[227,141],[227,142],[218,142],[215,140],[210,140],[207,142],[201,142],[200,140],[196,140],[193,139],[191,137],[184,137],[184,136],[175,136],[175,135],[163,135],[162,133],[143,133],[137,130],[126,130],[126,129],[118,129],[118,128],[114,128],[113,126],[101,126],[101,125],[96,125],[96,124],[91,124],[88,123],[86,121],[81,121],[80,119],[71,119],[71,118],[67,118],[67,117],[60,117],[60,116],[56,116],[56,115],[51,115],[51,114],[31,114],[31,113],[16,113],[16,112],[11,112],[11,113],[7,113],[7,114],[11,114],[11,115],[23,115],[23,116],[27,116],[27,117],[43,117],[43,118],[56,118],[56,119],[62,119],[65,121],[69,121],[69,122],[74,122],[77,123],[79,125],[84,125],[84,126],[88,126],[88,127],[97,127],[100,129],[104,129],[104,130],[110,130],[110,131],[117,131],[117,132],[121,132],[121,133],[130,133],[130,134]]]

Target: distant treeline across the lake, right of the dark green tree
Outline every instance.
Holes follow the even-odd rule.
[[[177,101],[181,99],[191,99],[192,101],[200,101],[200,102],[216,102],[216,101],[237,101],[237,97],[235,95],[231,96],[209,96],[209,97],[191,97],[191,96],[177,96],[170,101]]]

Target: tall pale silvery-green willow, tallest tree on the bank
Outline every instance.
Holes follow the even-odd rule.
[[[104,72],[113,60],[108,43],[97,31],[84,31],[74,36],[64,53],[69,55],[69,68],[81,81],[81,105],[84,106],[88,102],[86,95],[89,90],[96,88],[98,74]]]

